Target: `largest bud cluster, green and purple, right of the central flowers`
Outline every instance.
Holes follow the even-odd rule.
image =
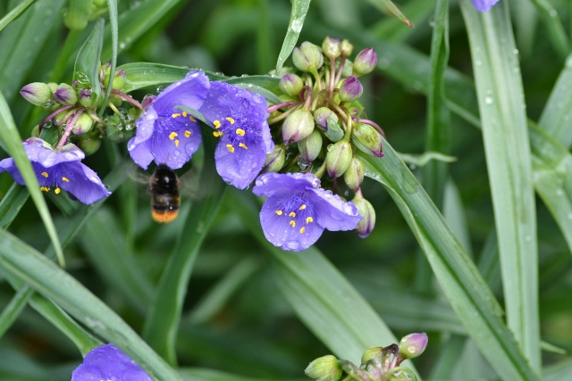
[[[265,162],[266,172],[288,172],[293,167],[322,178],[322,184],[338,193],[341,179],[355,193],[352,200],[364,218],[359,236],[368,236],[375,225],[375,211],[361,192],[365,166],[357,150],[383,157],[383,130],[364,118],[358,99],[363,93],[359,77],[374,70],[377,54],[366,48],[354,62],[348,40],[326,37],[322,46],[304,42],[294,48],[292,61],[302,73],[282,76],[281,104],[269,108],[268,123],[283,144],[276,145]],[[278,137],[280,138],[280,137]],[[274,139],[278,140],[278,139]]]

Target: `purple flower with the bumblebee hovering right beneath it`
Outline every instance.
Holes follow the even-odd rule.
[[[184,79],[165,88],[135,122],[137,134],[127,149],[134,162],[147,170],[150,162],[181,168],[196,153],[201,142],[198,122],[187,112],[175,109],[182,105],[198,110],[209,90],[202,71],[189,71]]]

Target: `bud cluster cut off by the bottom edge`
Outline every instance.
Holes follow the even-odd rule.
[[[410,334],[400,344],[386,347],[371,346],[361,357],[361,367],[348,360],[338,360],[332,355],[310,362],[304,371],[307,377],[316,381],[391,381],[416,379],[415,374],[400,364],[413,359],[425,351],[427,335]]]

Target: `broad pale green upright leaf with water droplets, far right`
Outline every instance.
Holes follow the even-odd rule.
[[[461,3],[475,72],[509,328],[540,373],[538,246],[526,104],[508,3]],[[504,6],[502,6],[504,5]]]

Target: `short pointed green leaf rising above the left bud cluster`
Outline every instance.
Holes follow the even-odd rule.
[[[101,56],[101,46],[104,42],[103,19],[96,21],[88,39],[81,46],[80,53],[75,59],[73,68],[73,80],[77,80],[82,85],[88,85],[97,94],[97,99],[101,98],[101,86],[99,85],[99,57]]]

